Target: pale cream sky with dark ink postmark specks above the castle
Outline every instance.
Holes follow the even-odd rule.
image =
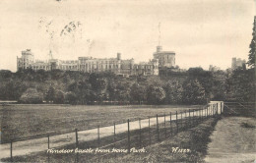
[[[176,53],[181,69],[225,70],[247,60],[256,0],[0,0],[0,70],[17,56],[153,59],[156,46]]]

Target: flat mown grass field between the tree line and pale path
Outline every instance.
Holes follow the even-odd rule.
[[[10,105],[0,106],[1,142],[34,136],[89,130],[110,126],[127,119],[148,118],[157,114],[198,109],[200,106],[87,106],[87,105]]]

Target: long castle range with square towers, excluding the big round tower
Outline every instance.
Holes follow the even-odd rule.
[[[117,75],[159,75],[159,61],[152,60],[148,63],[134,64],[134,60],[121,60],[121,54],[117,53],[116,58],[92,58],[79,57],[78,60],[57,60],[33,61],[33,56],[28,57],[28,52],[22,52],[22,57],[17,57],[18,69],[29,69],[34,71],[50,71],[54,69],[62,71],[81,71],[85,73],[112,72]],[[31,53],[31,51],[30,51]],[[25,60],[24,60],[25,59]],[[25,62],[24,62],[25,61]]]

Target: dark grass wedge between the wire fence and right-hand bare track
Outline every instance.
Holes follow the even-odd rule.
[[[184,131],[173,138],[146,147],[146,153],[131,153],[103,162],[204,162],[210,135],[218,119],[211,118],[199,126]],[[190,149],[189,153],[173,153],[172,147]]]

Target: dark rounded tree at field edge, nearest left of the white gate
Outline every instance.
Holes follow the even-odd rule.
[[[204,104],[206,102],[205,89],[197,80],[188,79],[183,83],[182,100],[186,104]]]

